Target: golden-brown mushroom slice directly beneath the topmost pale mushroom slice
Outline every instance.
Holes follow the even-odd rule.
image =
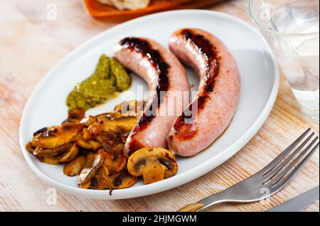
[[[129,132],[137,124],[136,117],[124,117],[118,112],[102,114],[98,117],[98,120],[103,125],[103,131],[108,133],[114,133],[114,131],[119,130]]]

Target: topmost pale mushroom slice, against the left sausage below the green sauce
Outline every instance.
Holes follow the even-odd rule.
[[[125,117],[140,117],[144,112],[144,107],[146,107],[146,102],[131,100],[118,104],[114,107],[114,111],[119,112]]]

